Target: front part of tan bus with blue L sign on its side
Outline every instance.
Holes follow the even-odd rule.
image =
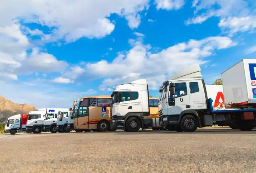
[[[75,102],[74,129],[81,131],[115,131],[110,129],[110,95],[87,96]]]

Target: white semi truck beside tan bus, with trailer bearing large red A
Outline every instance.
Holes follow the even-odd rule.
[[[220,109],[224,104],[222,85],[206,85],[206,91],[213,98],[214,108]],[[140,128],[150,129],[160,126],[159,118],[146,118],[149,116],[149,112],[144,112],[148,110],[149,97],[147,92],[148,86],[145,79],[118,85],[111,96],[114,99],[111,108],[111,126],[126,131],[138,131]],[[118,100],[118,98],[122,99]],[[131,119],[128,121],[130,117]],[[132,119],[134,121],[131,121]],[[165,128],[175,130],[172,127]]]

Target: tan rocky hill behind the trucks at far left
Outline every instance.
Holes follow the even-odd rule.
[[[11,100],[0,95],[0,123],[16,114],[25,114],[36,110],[32,105],[13,103]]]

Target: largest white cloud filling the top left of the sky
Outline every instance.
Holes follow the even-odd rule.
[[[45,41],[64,38],[73,42],[82,37],[102,38],[109,35],[115,28],[107,17],[116,13],[125,17],[131,28],[140,24],[140,12],[148,9],[149,0],[28,0],[4,1],[0,11],[0,26],[6,26],[12,19],[22,19],[24,23],[38,23],[55,28],[51,34],[43,35]],[[89,14],[89,15],[88,15]],[[40,31],[39,31],[40,32]],[[35,31],[36,34],[41,34]],[[33,32],[34,33],[34,32]]]

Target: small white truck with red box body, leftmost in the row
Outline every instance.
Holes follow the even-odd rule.
[[[15,134],[26,131],[28,114],[17,114],[9,117],[5,123],[5,133]]]

